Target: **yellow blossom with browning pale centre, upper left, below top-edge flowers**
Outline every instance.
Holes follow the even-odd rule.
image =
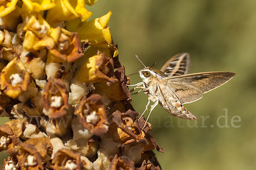
[[[33,15],[23,29],[26,30],[23,42],[25,50],[37,51],[45,47],[53,48],[55,43],[50,36],[51,27],[40,14]]]

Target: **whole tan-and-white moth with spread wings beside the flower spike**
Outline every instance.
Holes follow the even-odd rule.
[[[140,59],[139,61],[143,64]],[[140,118],[148,110],[150,102],[154,102],[151,105],[148,118],[153,109],[160,104],[175,117],[198,120],[184,107],[184,104],[201,99],[202,94],[218,88],[235,75],[232,72],[222,71],[188,74],[190,68],[188,53],[175,55],[160,70],[152,68],[153,65],[146,67],[143,64],[143,66],[145,68],[138,72],[143,81],[135,85],[128,85],[136,86],[131,91],[140,88],[140,91],[148,95],[148,103]],[[148,118],[146,122],[148,122]]]

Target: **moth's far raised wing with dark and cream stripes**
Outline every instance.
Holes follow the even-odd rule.
[[[188,74],[190,69],[190,56],[188,53],[176,54],[160,69],[167,77]]]

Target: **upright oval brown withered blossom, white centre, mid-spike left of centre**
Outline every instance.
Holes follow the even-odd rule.
[[[42,105],[49,118],[60,118],[69,108],[66,86],[61,79],[49,80],[42,93]]]

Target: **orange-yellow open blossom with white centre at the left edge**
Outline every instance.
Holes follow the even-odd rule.
[[[25,66],[17,58],[3,68],[0,75],[1,90],[9,97],[16,98],[29,86],[31,81]]]

